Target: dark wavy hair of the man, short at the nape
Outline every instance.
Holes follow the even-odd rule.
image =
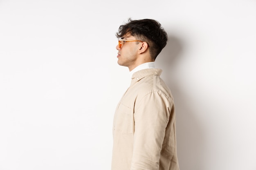
[[[156,59],[157,55],[166,46],[168,40],[167,33],[161,24],[152,19],[132,20],[119,26],[116,33],[117,38],[123,38],[125,35],[131,35],[148,43],[149,51],[152,59]]]

